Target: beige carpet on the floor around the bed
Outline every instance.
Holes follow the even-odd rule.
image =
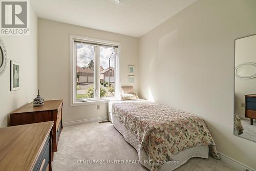
[[[78,164],[80,160],[98,163]],[[105,164],[100,164],[100,160]],[[108,164],[113,160],[138,160],[135,148],[127,143],[123,136],[110,123],[86,123],[64,127],[54,153],[53,170],[147,170],[141,164]],[[117,161],[116,161],[117,162]],[[225,170],[232,167],[212,157],[193,158],[178,169],[181,170]]]

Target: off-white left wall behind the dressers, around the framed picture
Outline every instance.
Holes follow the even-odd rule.
[[[8,63],[0,75],[0,127],[7,126],[9,113],[33,101],[37,95],[37,16],[30,7],[29,36],[1,36]],[[10,91],[10,60],[20,63],[20,90]]]

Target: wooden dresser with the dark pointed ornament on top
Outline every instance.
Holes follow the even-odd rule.
[[[33,102],[10,114],[10,126],[37,122],[53,121],[52,160],[53,152],[57,152],[58,141],[62,131],[63,100],[48,100],[43,106],[33,106]]]

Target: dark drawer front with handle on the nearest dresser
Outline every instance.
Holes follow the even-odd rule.
[[[45,171],[48,168],[48,163],[50,160],[50,136],[48,137],[38,159],[34,165],[33,171]]]

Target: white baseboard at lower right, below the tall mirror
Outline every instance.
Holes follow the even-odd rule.
[[[244,165],[244,164],[242,164],[242,163],[240,163],[240,162],[238,162],[220,152],[219,152],[219,154],[221,156],[221,161],[223,161],[224,163],[226,163],[228,165],[231,165],[232,167],[238,169],[239,171],[247,171],[247,170],[255,171],[253,168],[250,168],[250,167],[248,167],[248,166],[246,166],[246,165]]]

